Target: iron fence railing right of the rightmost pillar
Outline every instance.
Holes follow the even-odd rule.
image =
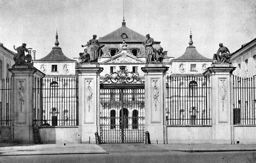
[[[232,76],[234,124],[256,124],[256,77]]]

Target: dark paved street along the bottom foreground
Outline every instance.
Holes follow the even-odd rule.
[[[0,162],[255,162],[256,152],[111,152],[109,154],[0,156]]]

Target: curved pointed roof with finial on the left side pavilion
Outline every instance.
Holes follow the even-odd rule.
[[[59,47],[58,34],[56,34],[55,47],[52,48],[52,51],[41,59],[37,61],[76,61],[70,58],[67,58],[66,55],[63,54],[61,48]]]

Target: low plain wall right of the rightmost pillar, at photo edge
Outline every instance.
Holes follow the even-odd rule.
[[[256,127],[255,126],[234,126],[235,143],[256,143]]]

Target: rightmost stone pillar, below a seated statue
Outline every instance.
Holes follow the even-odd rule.
[[[211,137],[213,143],[230,144],[231,139],[231,112],[230,112],[230,77],[235,67],[229,64],[212,64],[204,76],[210,77],[211,96],[210,109],[212,120]]]

